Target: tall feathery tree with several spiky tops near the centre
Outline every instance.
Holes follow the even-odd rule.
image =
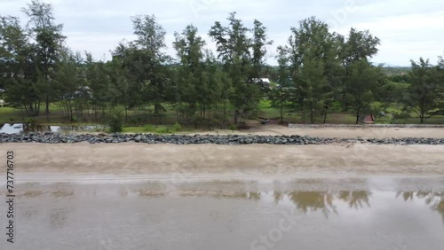
[[[233,82],[234,95],[230,98],[234,106],[234,121],[252,114],[259,100],[259,88],[254,84],[258,70],[266,54],[266,28],[255,21],[253,38],[251,30],[244,26],[242,20],[236,19],[235,12],[230,13],[229,26],[223,27],[217,21],[210,28],[210,37],[216,42],[218,59],[224,65],[225,72]],[[253,55],[251,55],[253,54]]]

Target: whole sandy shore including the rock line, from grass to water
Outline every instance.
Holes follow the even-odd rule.
[[[249,132],[214,131],[205,136],[0,134],[0,151],[14,151],[16,171],[33,173],[37,175],[34,179],[50,174],[55,179],[67,175],[147,179],[444,176],[444,129],[264,126]]]

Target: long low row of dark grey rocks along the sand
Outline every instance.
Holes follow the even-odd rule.
[[[87,142],[90,144],[173,144],[173,145],[327,145],[335,143],[364,143],[377,145],[444,145],[444,138],[320,138],[300,136],[184,136],[184,135],[152,135],[152,134],[59,134],[59,133],[26,133],[0,134],[0,143],[44,143],[74,144]]]

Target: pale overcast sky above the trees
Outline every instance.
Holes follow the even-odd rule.
[[[25,19],[20,9],[30,0],[0,0],[0,15]],[[193,23],[214,49],[207,33],[219,20],[226,23],[229,12],[251,27],[258,19],[274,40],[268,62],[275,63],[276,47],[285,44],[289,28],[310,16],[329,23],[333,31],[346,35],[350,27],[369,29],[382,41],[372,59],[376,63],[408,66],[410,59],[444,55],[444,1],[442,0],[44,0],[52,3],[56,21],[64,24],[67,45],[73,51],[91,51],[95,59],[109,59],[110,50],[126,38],[132,40],[130,17],[155,14],[167,31],[168,53],[174,32]],[[371,3],[371,4],[369,4]],[[25,21],[25,20],[23,20]]]

